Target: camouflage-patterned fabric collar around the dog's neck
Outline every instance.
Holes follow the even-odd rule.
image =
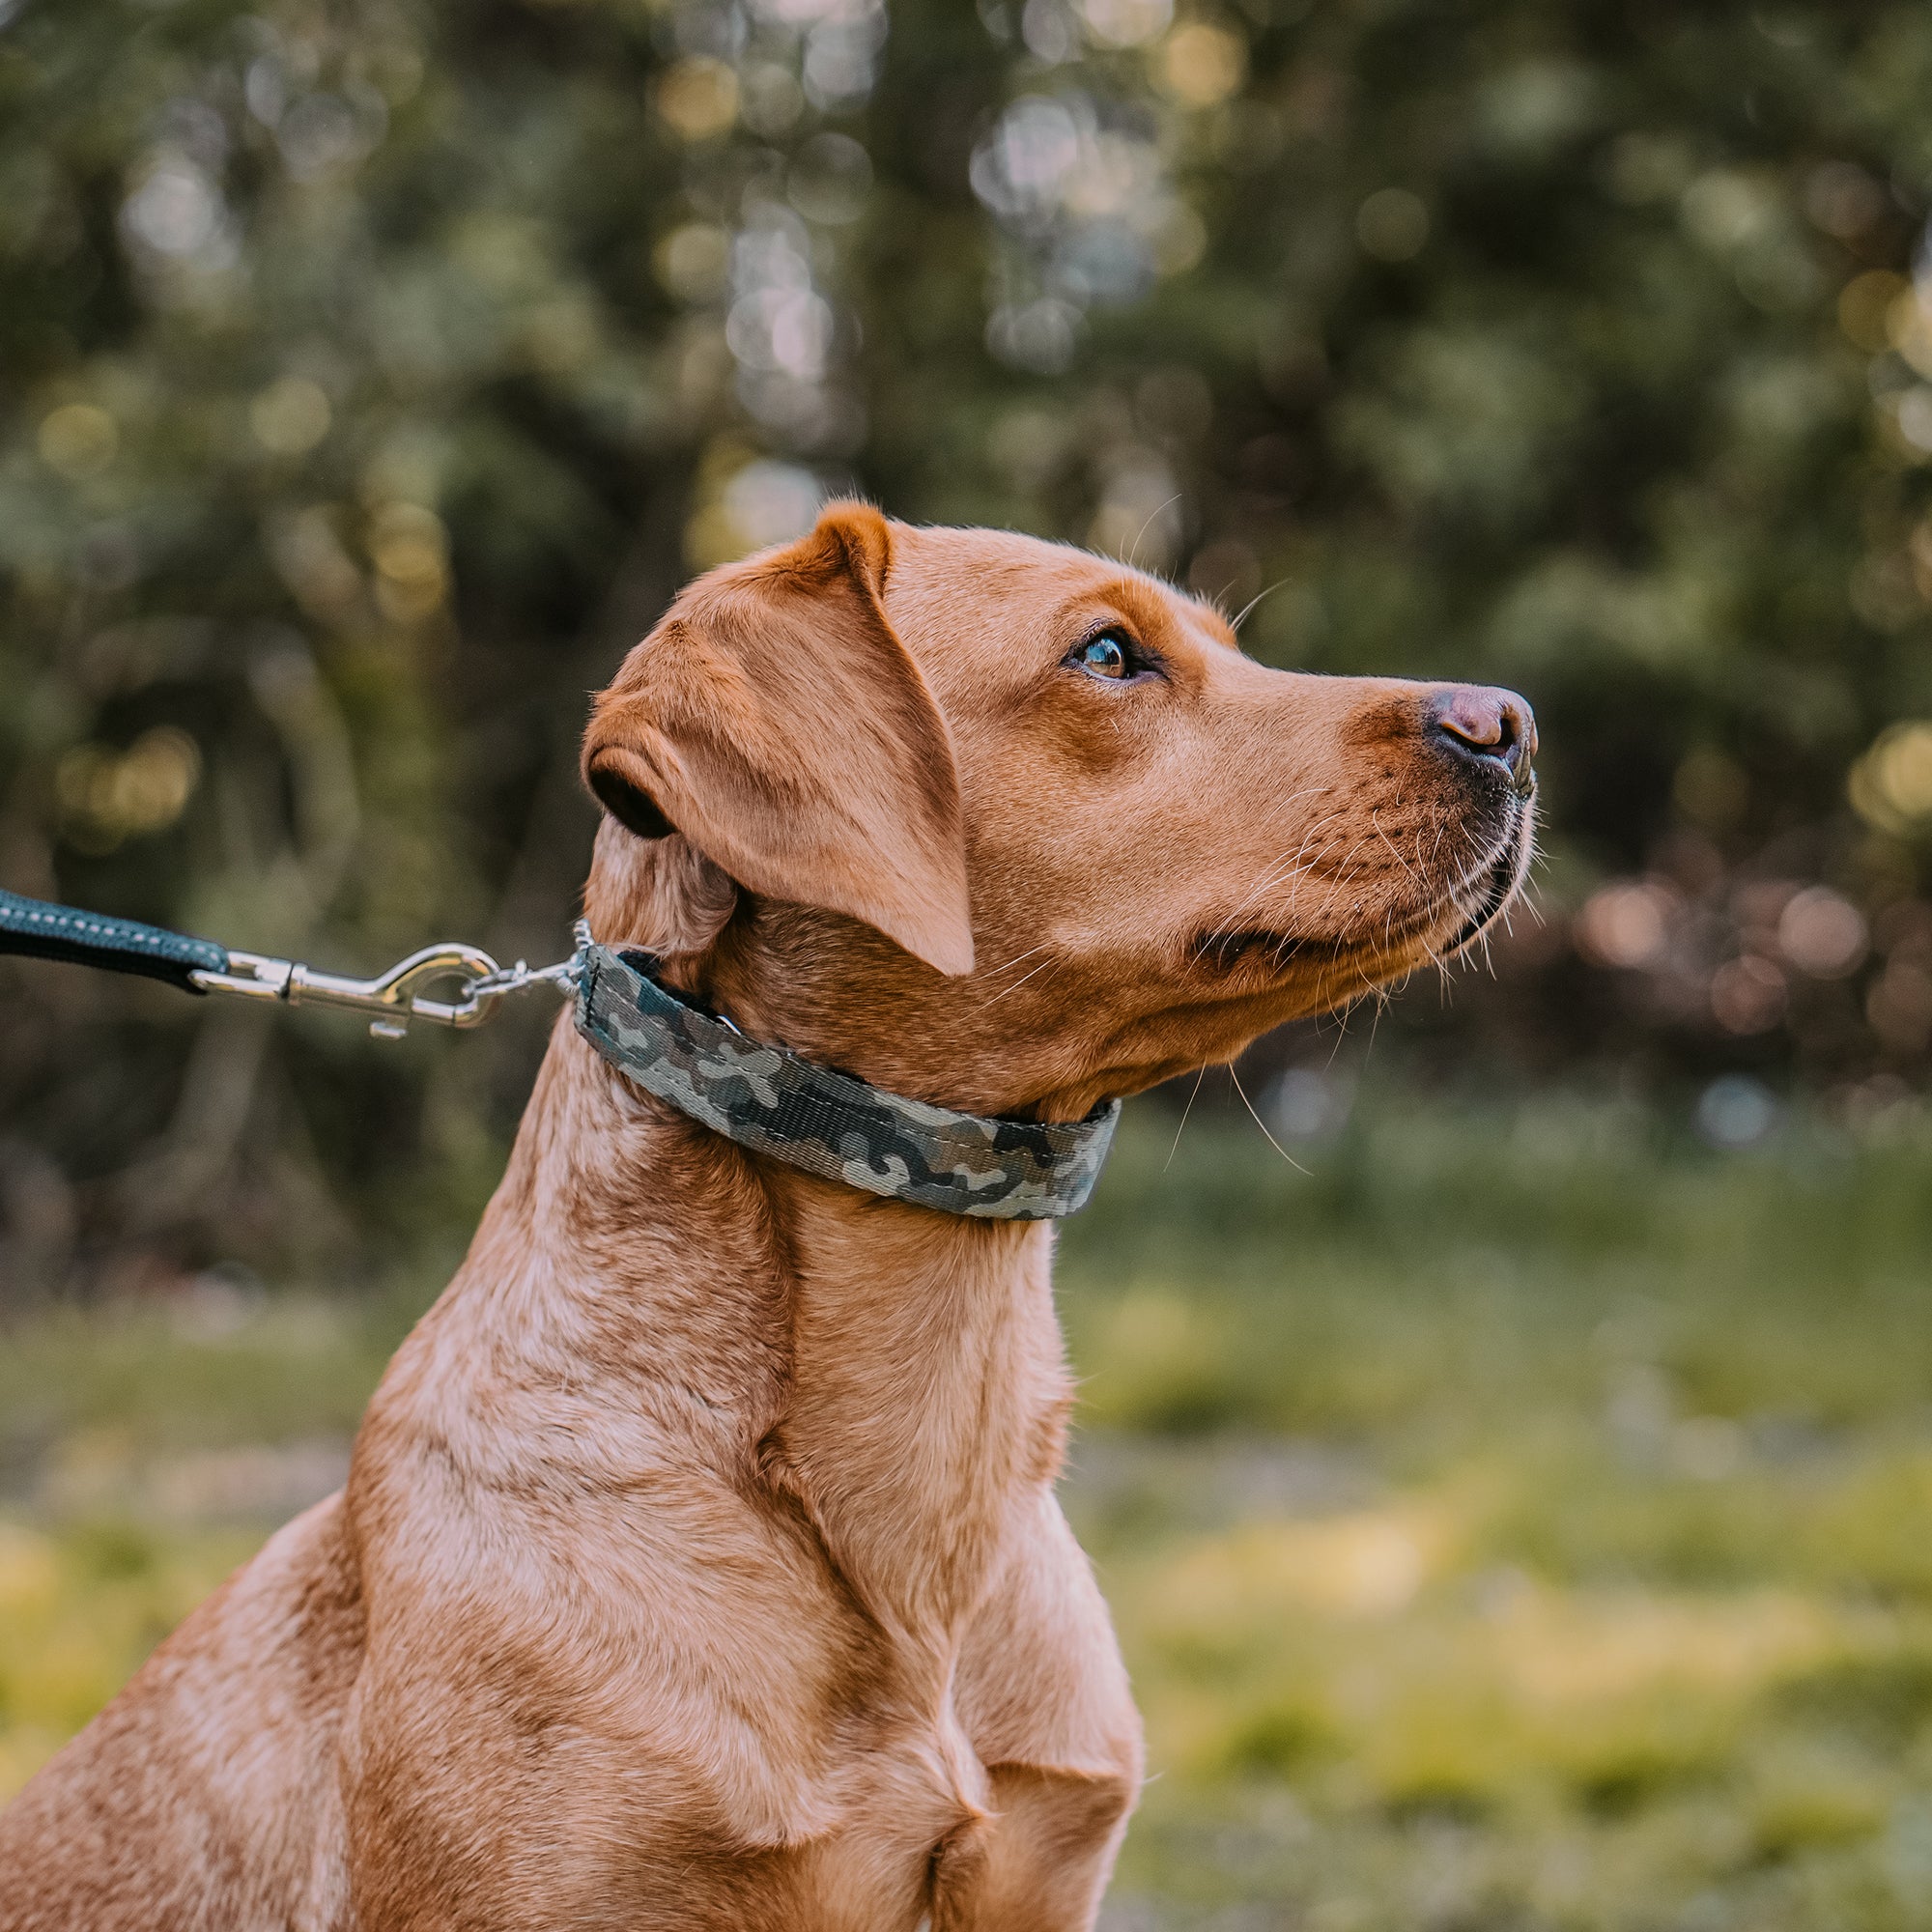
[[[647,1094],[742,1148],[887,1194],[989,1221],[1051,1221],[1086,1204],[1121,1103],[1084,1121],[989,1121],[883,1094],[746,1039],[653,978],[649,952],[578,952],[578,1032]]]

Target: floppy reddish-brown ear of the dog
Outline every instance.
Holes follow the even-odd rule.
[[[583,779],[639,838],[864,920],[972,972],[952,742],[879,603],[885,518],[831,504],[798,543],[694,583],[591,711]]]

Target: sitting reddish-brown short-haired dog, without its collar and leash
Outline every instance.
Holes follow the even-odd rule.
[[[1084,1122],[1476,943],[1534,750],[1513,694],[1271,670],[1122,564],[840,502],[597,697],[585,916],[748,1045]],[[1142,1741],[1051,1246],[560,1018],[346,1488],[0,1818],[0,1926],[1090,1926]]]

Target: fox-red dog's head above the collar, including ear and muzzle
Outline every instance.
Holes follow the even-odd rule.
[[[1074,1119],[1468,947],[1534,750],[1507,692],[1269,670],[1122,564],[835,504],[597,699],[587,912],[746,1032]]]

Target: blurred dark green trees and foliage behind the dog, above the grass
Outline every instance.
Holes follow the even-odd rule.
[[[1868,0],[0,0],[0,879],[554,956],[585,692],[856,487],[1528,692],[1544,923],[1416,1051],[1878,1111],[1932,1045],[1928,102]],[[14,1300],[462,1223],[541,1022],[4,997]]]

